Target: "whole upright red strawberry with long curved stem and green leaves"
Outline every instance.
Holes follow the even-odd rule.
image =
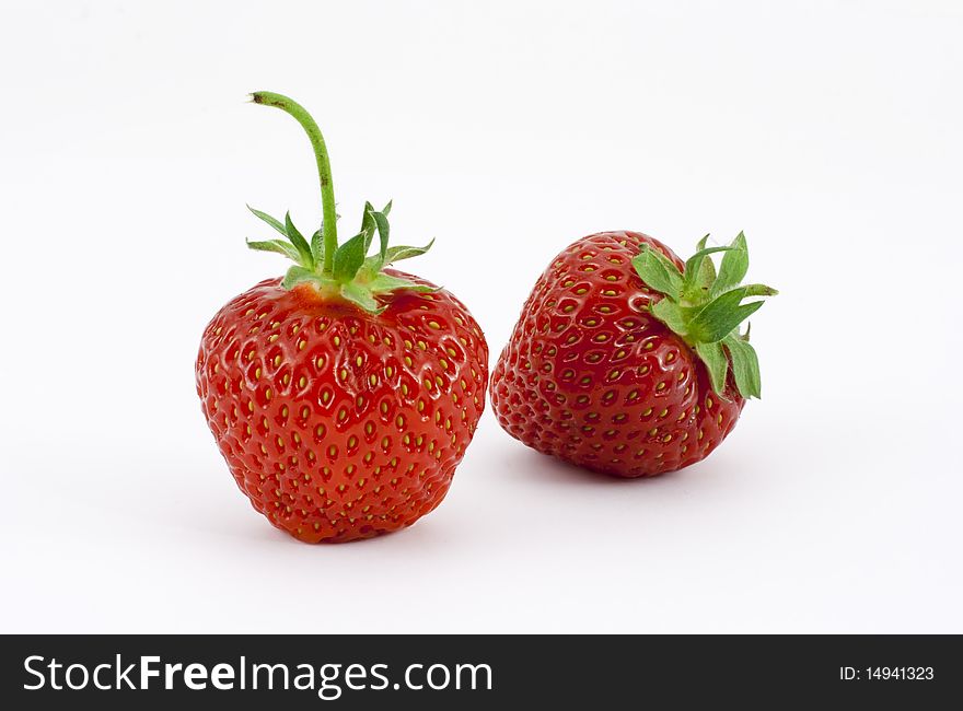
[[[485,405],[488,346],[444,289],[386,268],[426,247],[388,246],[387,214],[366,206],[338,245],[327,149],[315,151],[324,221],[311,240],[252,210],[281,238],[250,242],[294,261],[232,299],[204,330],[196,380],[218,447],[241,490],[278,528],[309,543],[368,538],[434,509]],[[368,256],[379,237],[379,248]]]

